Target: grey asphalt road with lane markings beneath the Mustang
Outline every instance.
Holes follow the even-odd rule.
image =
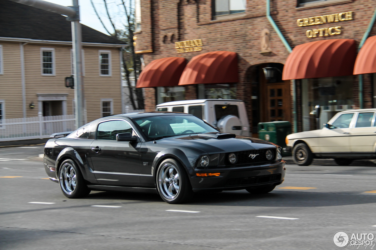
[[[337,249],[337,231],[376,235],[376,191],[367,193],[376,165],[287,165],[269,194],[205,193],[169,205],[139,193],[67,199],[46,179],[42,153],[0,149],[0,249]]]

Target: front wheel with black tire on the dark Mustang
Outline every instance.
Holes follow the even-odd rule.
[[[193,196],[185,169],[174,159],[159,164],[156,184],[161,198],[170,204],[188,202]]]

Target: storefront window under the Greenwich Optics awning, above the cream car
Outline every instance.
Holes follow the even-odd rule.
[[[353,103],[352,76],[302,79],[303,131],[322,128],[336,113],[352,109]],[[321,108],[318,124],[312,112],[316,105]]]

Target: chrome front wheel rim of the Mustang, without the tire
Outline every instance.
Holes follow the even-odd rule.
[[[165,163],[161,166],[158,175],[159,190],[169,200],[179,195],[180,175],[179,170],[172,163]]]

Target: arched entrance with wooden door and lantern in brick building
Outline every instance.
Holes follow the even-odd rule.
[[[282,81],[283,64],[262,63],[251,66],[248,79],[252,103],[252,134],[258,133],[259,122],[291,122],[290,80]],[[274,75],[265,78],[264,68],[269,68]]]

